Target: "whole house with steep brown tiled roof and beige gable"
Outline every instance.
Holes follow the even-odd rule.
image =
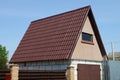
[[[10,63],[21,70],[73,68],[74,80],[103,80],[107,55],[86,6],[31,22]]]

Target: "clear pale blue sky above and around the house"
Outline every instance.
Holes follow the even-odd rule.
[[[120,0],[0,0],[0,44],[15,52],[34,20],[90,5],[106,52],[120,51]]]

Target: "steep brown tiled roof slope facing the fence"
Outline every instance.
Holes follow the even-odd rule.
[[[10,62],[70,59],[89,11],[87,6],[33,21]]]

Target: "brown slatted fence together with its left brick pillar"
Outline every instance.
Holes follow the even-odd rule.
[[[11,65],[8,70],[0,70],[0,80],[67,80],[66,70],[19,70]]]

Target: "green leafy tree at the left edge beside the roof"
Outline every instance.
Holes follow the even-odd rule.
[[[6,69],[8,63],[8,51],[6,47],[0,45],[0,69]]]

